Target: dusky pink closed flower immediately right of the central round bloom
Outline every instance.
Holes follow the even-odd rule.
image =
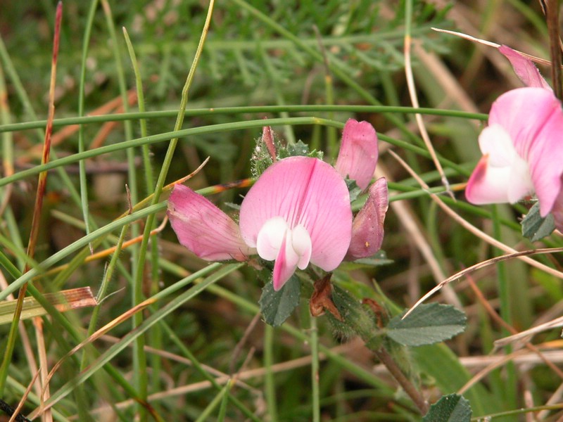
[[[346,259],[353,261],[374,255],[383,243],[385,214],[389,204],[387,181],[384,177],[369,187],[364,207],[352,223],[352,241]]]

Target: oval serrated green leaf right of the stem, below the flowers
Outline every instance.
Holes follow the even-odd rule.
[[[405,346],[422,346],[448,340],[465,329],[467,318],[452,305],[419,305],[405,319],[402,315],[389,321],[387,335]]]

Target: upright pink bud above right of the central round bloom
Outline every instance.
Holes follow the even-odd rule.
[[[349,119],[344,126],[336,170],[342,177],[355,180],[361,188],[367,188],[377,164],[377,134],[368,122]]]

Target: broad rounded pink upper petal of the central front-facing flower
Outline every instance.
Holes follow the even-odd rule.
[[[311,238],[311,262],[331,271],[342,262],[352,232],[350,195],[326,162],[309,157],[279,160],[262,173],[241,205],[241,234],[255,246],[267,220],[284,217],[291,229],[303,224]]]

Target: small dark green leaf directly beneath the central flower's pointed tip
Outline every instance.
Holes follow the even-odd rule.
[[[272,282],[266,283],[258,301],[264,321],[274,327],[284,324],[293,313],[293,309],[299,305],[300,290],[301,282],[295,274],[279,291],[274,290]]]

